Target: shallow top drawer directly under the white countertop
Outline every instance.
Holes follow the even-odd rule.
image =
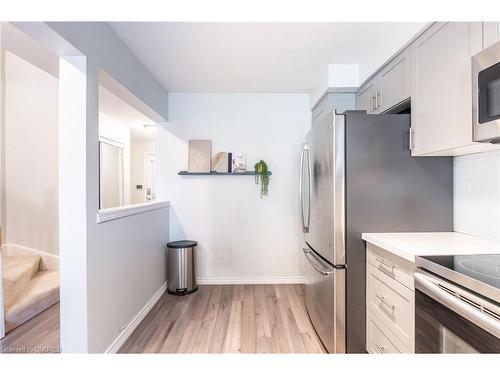
[[[371,243],[366,244],[366,261],[407,288],[414,290],[412,262]]]

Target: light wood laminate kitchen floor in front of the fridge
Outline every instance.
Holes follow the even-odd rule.
[[[122,353],[324,353],[302,285],[205,285],[164,294]]]

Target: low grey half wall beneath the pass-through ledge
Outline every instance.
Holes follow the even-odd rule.
[[[103,352],[166,281],[168,208],[94,225],[89,351]]]

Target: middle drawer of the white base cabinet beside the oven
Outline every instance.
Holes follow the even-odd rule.
[[[366,267],[366,305],[401,342],[415,347],[415,293],[371,264]]]

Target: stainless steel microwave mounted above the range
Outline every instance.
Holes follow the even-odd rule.
[[[472,58],[474,140],[500,142],[500,42]]]

